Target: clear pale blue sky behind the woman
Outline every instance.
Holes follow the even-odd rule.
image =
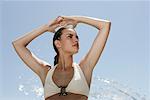
[[[3,100],[33,100],[18,91],[19,76],[36,75],[19,59],[11,42],[59,15],[83,15],[112,22],[110,35],[93,75],[116,80],[143,93],[150,93],[149,2],[147,1],[3,1],[0,2],[0,97]],[[86,54],[97,34],[91,26],[79,24],[80,50],[74,61]],[[39,58],[53,64],[52,33],[29,44]],[[40,80],[38,85],[41,85]],[[23,81],[22,81],[23,82]],[[8,97],[9,96],[9,97]]]

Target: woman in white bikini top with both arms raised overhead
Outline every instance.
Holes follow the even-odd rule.
[[[79,50],[79,39],[74,28],[84,23],[98,29],[89,52],[79,62],[73,55]],[[73,27],[69,27],[73,26]],[[110,22],[85,16],[59,16],[25,36],[13,41],[13,46],[24,61],[41,79],[45,100],[87,100],[93,69],[104,49],[110,31]],[[55,33],[53,46],[57,53],[54,67],[37,58],[26,47],[45,32]]]

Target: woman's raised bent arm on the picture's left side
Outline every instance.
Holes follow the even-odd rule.
[[[56,19],[53,22],[40,26],[33,31],[26,33],[24,36],[19,37],[12,42],[17,54],[23,60],[23,62],[34,71],[44,84],[46,74],[50,69],[50,65],[36,57],[28,48],[27,45],[39,35],[49,31],[54,32],[54,29],[59,26],[60,19]]]

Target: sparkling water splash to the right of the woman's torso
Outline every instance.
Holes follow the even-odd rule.
[[[97,76],[93,78],[91,89],[89,100],[147,100],[144,94],[127,85]]]

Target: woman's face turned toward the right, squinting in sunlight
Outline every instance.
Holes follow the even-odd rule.
[[[79,39],[74,29],[64,29],[59,40],[59,49],[65,53],[75,54],[79,50]]]

